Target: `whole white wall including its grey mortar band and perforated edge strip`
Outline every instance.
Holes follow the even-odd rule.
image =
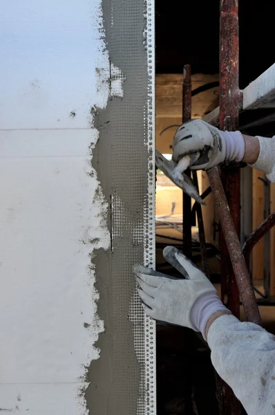
[[[3,5],[2,411],[155,413],[155,325],[131,271],[154,265],[153,14],[151,1]]]

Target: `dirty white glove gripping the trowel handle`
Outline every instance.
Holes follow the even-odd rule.
[[[190,169],[210,169],[225,160],[241,161],[245,155],[245,140],[240,131],[220,131],[205,121],[190,120],[176,131],[173,160],[179,163],[190,155],[196,155]]]

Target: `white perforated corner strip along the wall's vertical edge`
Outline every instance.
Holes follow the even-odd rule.
[[[144,107],[144,147],[148,149],[148,181],[144,199],[144,265],[155,268],[155,21],[154,1],[144,1],[144,47],[148,85]],[[140,396],[137,415],[156,414],[155,322],[147,317],[135,294],[131,303],[135,353],[140,365]]]

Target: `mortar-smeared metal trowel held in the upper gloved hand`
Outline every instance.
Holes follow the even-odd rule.
[[[190,165],[190,156],[185,156],[179,163],[175,163],[173,160],[167,160],[159,151],[155,151],[155,164],[165,176],[175,183],[184,193],[196,200],[201,205],[205,205],[205,201],[200,197],[197,187],[193,184],[193,181],[187,174],[184,174],[184,170]]]

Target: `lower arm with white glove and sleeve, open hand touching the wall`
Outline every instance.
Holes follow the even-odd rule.
[[[247,414],[274,415],[274,336],[231,315],[207,277],[176,248],[165,248],[164,258],[185,279],[135,266],[138,293],[146,314],[155,320],[200,331],[209,344],[216,371]]]

